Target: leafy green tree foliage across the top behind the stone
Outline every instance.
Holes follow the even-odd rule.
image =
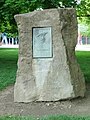
[[[89,0],[82,0],[77,6],[78,15],[86,14],[90,6]],[[83,5],[86,4],[85,7]],[[17,27],[14,15],[34,11],[37,8],[49,9],[58,7],[76,7],[76,0],[0,0],[0,31],[16,33]],[[83,11],[81,10],[83,9]],[[89,12],[89,9],[88,9]]]

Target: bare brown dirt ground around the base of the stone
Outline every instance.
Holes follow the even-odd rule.
[[[56,114],[90,115],[90,84],[84,98],[58,102],[14,103],[14,87],[0,91],[0,115],[45,116]]]

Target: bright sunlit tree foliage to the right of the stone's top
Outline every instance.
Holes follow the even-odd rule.
[[[83,27],[81,34],[90,36],[90,0],[81,0],[81,3],[77,5],[77,16],[79,24]]]

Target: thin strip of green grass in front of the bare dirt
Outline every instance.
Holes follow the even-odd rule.
[[[42,118],[34,118],[29,116],[27,117],[4,116],[0,117],[0,120],[90,120],[90,117],[65,116],[65,115],[47,116]]]

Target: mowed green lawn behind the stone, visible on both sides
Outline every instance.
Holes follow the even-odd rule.
[[[90,52],[77,51],[76,57],[86,82],[90,82]],[[17,60],[18,49],[0,49],[0,90],[15,83]]]

